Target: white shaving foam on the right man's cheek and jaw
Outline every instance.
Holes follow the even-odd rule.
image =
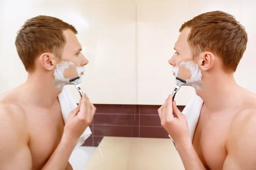
[[[180,63],[179,66],[185,66],[187,69],[190,70],[191,72],[191,78],[190,79],[186,79],[186,86],[192,86],[193,88],[195,88],[195,91],[201,90],[202,88],[204,88],[204,82],[202,82],[201,78],[202,78],[202,74],[201,74],[201,70],[199,70],[198,65],[195,64],[195,62],[193,61],[183,61]],[[175,77],[177,77],[177,74],[179,72],[179,67],[174,67],[172,68],[172,71],[175,73]]]

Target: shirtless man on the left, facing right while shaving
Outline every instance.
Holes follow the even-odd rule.
[[[0,96],[1,170],[72,170],[70,155],[96,111],[84,94],[64,125],[61,90],[53,85],[61,60],[88,63],[76,34],[72,25],[47,16],[26,21],[18,32],[15,45],[28,77]]]

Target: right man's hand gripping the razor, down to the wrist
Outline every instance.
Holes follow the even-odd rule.
[[[179,111],[176,102],[172,102],[171,95],[169,95],[165,103],[158,109],[158,114],[162,127],[165,128],[172,137],[176,146],[177,144],[182,145],[187,142],[191,143],[186,116]]]

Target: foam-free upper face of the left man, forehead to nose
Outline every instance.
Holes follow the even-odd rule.
[[[81,44],[79,43],[76,34],[71,30],[63,31],[66,38],[66,44],[62,51],[61,60],[73,62],[77,67],[84,67],[88,64],[88,60],[81,54]]]

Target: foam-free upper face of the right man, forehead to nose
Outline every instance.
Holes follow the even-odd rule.
[[[193,60],[192,51],[189,48],[187,37],[190,33],[190,28],[185,28],[181,31],[178,40],[174,45],[175,54],[169,59],[169,64],[173,67],[178,67],[183,61]]]

